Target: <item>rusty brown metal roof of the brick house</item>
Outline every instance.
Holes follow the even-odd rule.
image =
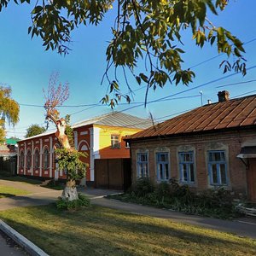
[[[221,131],[256,124],[256,95],[195,108],[131,135],[129,139],[172,136],[191,132]]]

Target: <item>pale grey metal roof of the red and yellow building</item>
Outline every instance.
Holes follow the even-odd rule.
[[[72,128],[79,128],[84,125],[106,125],[112,127],[146,129],[152,125],[152,122],[150,119],[141,119],[131,114],[112,112],[102,114],[101,116],[95,117],[93,119],[86,119],[79,123],[75,123],[72,125]],[[55,131],[45,131],[44,133],[38,134],[36,136],[24,138],[20,140],[20,143],[32,138],[43,137],[54,133]]]

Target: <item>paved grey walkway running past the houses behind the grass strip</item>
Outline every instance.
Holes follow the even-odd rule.
[[[42,188],[38,185],[27,183],[17,183],[0,180],[0,184],[13,186],[20,189],[31,191],[30,195],[15,196],[0,199],[0,211],[26,206],[38,206],[49,204],[56,200],[61,195],[61,191]],[[91,203],[102,207],[110,207],[119,209],[125,212],[132,212],[135,214],[143,214],[156,218],[166,218],[176,222],[186,224],[199,225],[208,229],[222,230],[237,234],[238,236],[249,236],[256,238],[256,218],[237,218],[233,221],[222,220],[218,218],[204,218],[201,216],[187,215],[181,212],[172,212],[164,209],[157,209],[154,207],[144,207],[137,204],[125,203],[121,201],[108,200],[104,195],[119,193],[115,190],[105,189],[79,189],[85,195],[90,197]]]

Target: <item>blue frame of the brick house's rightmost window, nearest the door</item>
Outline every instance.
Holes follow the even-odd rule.
[[[214,153],[224,153],[224,160],[210,160],[210,154]],[[208,150],[207,151],[207,165],[208,165],[208,174],[209,174],[209,182],[211,186],[228,186],[229,185],[229,179],[228,179],[228,165],[227,165],[227,154],[226,150],[220,149],[220,150]],[[217,183],[213,182],[213,175],[212,175],[212,166],[216,165],[217,167]],[[225,183],[222,182],[221,177],[221,169],[220,166],[224,165],[224,178]]]

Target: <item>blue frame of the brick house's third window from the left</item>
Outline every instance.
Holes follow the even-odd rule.
[[[184,154],[192,154],[192,160],[184,160],[182,159]],[[195,184],[195,152],[194,150],[189,151],[179,151],[177,153],[178,155],[178,166],[179,166],[179,181],[180,183],[186,183],[186,184]],[[183,165],[186,165],[186,168],[188,170],[187,172],[187,180],[184,179],[184,173],[183,173]],[[193,165],[193,178],[191,177],[191,165]]]

